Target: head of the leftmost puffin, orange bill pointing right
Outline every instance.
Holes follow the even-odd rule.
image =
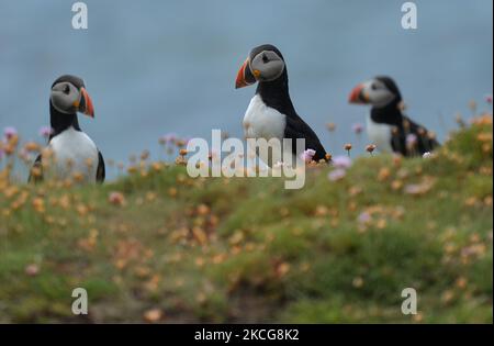
[[[65,75],[52,85],[49,101],[53,107],[64,114],[81,112],[94,118],[94,109],[91,98],[82,79],[76,76]]]

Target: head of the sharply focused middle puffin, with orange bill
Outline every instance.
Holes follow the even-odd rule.
[[[235,89],[254,85],[256,81],[273,81],[285,69],[281,52],[270,44],[255,47],[242,65],[235,81]]]

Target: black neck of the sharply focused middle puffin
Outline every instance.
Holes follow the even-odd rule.
[[[259,81],[256,94],[261,97],[266,105],[282,114],[290,115],[295,112],[290,99],[287,68],[279,78],[272,81]]]

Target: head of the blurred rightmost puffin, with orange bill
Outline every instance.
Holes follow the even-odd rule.
[[[380,76],[355,87],[348,97],[348,101],[383,108],[391,103],[400,103],[402,94],[393,79]]]

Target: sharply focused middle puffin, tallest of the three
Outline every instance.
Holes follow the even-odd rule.
[[[290,99],[287,64],[281,52],[271,44],[263,44],[250,51],[237,72],[235,88],[244,88],[258,82],[256,93],[245,112],[243,127],[246,138],[292,139],[292,163],[300,163],[302,153],[297,153],[296,139],[304,138],[304,150],[312,149],[312,160],[328,160],[328,155],[315,132],[296,113]],[[280,143],[278,142],[278,143]],[[261,150],[259,150],[261,152]],[[280,152],[281,153],[281,152]],[[314,153],[314,152],[312,152]],[[272,156],[258,153],[269,167],[278,161],[276,150]]]

